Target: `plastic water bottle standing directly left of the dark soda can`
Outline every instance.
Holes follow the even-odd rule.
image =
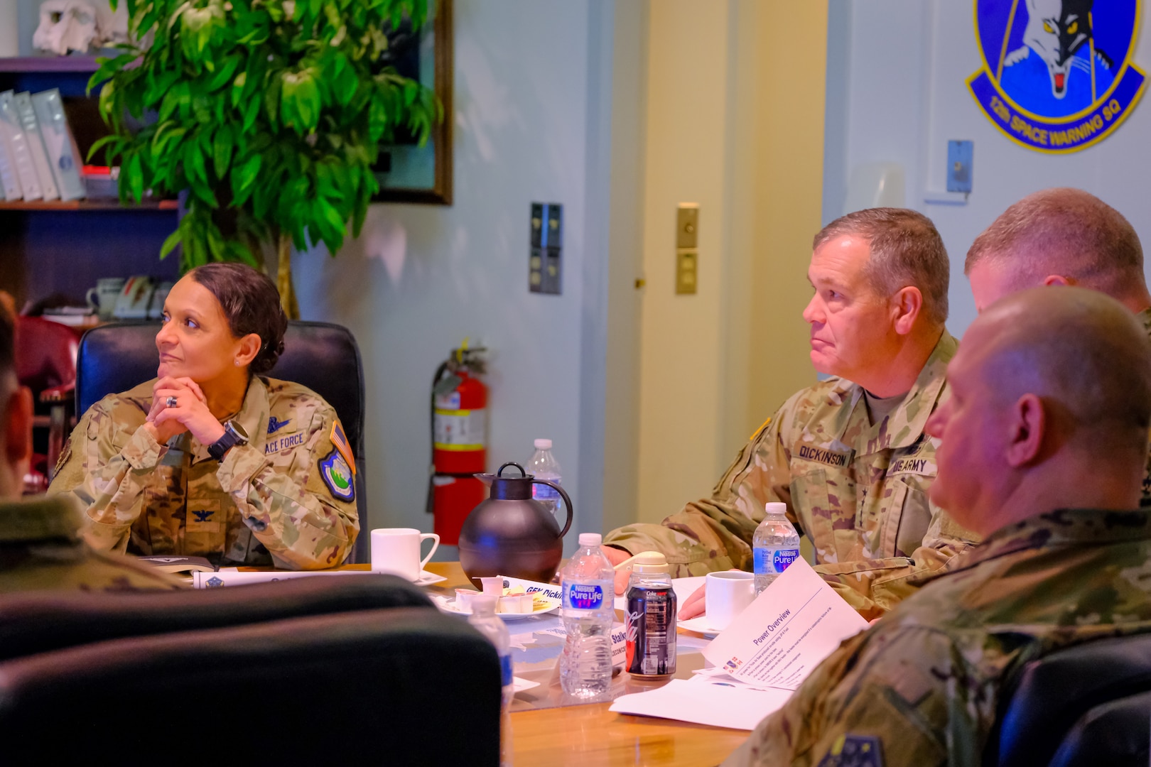
[[[611,622],[615,619],[615,570],[603,555],[599,532],[581,532],[579,551],[559,574],[564,642],[559,684],[578,698],[595,698],[611,687]]]

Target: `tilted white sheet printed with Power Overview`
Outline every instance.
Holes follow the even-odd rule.
[[[866,628],[867,621],[796,559],[703,657],[737,680],[794,690],[840,642]]]

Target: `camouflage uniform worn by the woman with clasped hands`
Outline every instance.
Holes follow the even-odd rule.
[[[142,428],[153,384],[93,405],[48,488],[83,503],[94,549],[285,569],[344,560],[359,531],[355,461],[330,405],[253,377],[233,416],[251,442],[218,462],[190,432],[160,445]]]

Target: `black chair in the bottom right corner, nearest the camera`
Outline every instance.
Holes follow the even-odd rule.
[[[1051,767],[1146,767],[1151,764],[1151,692],[1096,706],[1064,738]]]

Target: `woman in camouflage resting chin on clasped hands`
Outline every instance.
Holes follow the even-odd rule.
[[[319,394],[266,378],[288,327],[259,271],[213,263],[163,305],[158,377],[76,424],[49,493],[84,505],[98,550],[317,569],[359,531],[355,459]]]

